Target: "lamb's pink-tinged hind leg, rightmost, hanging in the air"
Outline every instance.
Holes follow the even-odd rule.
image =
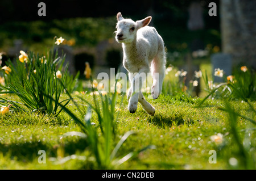
[[[164,50],[158,53],[151,63],[151,74],[153,78],[153,85],[151,89],[151,95],[153,99],[157,99],[161,94],[163,79],[166,70],[166,60],[164,55]]]

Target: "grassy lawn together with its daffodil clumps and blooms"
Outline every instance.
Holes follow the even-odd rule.
[[[1,68],[0,169],[255,169],[256,82],[246,66],[231,77],[214,70],[216,83],[205,59],[189,85],[186,71],[168,67],[158,99],[143,91],[150,116],[140,105],[131,114],[121,91],[93,96],[102,86],[91,69],[81,82],[63,62],[53,49],[20,51]],[[191,96],[198,81],[200,98]]]

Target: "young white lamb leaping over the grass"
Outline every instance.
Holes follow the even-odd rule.
[[[151,89],[152,98],[156,99],[162,91],[162,84],[166,69],[166,56],[164,42],[154,27],[147,26],[151,16],[134,22],[117,14],[117,31],[115,39],[122,43],[123,66],[129,72],[131,87],[127,98],[129,99],[128,110],[134,113],[138,102],[148,114],[154,115],[155,108],[148,103],[141,92],[141,85],[145,80],[142,74],[151,71],[153,84]],[[137,73],[137,74],[134,74]],[[138,86],[139,85],[139,86]],[[139,90],[135,89],[136,86]]]

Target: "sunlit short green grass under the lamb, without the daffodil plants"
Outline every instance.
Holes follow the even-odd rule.
[[[2,95],[1,95],[2,96]],[[93,103],[93,96],[81,95]],[[15,95],[7,95],[11,100],[17,100]],[[61,99],[68,96],[61,94]],[[146,95],[147,98],[147,95]],[[97,96],[100,101],[100,96]],[[121,103],[121,95],[117,104]],[[154,116],[147,115],[141,106],[134,114],[127,110],[127,99],[119,111],[116,122],[116,145],[127,131],[135,131],[118,150],[117,157],[122,158],[130,151],[139,150],[148,145],[156,149],[147,149],[114,169],[245,169],[240,164],[239,150],[233,144],[232,129],[229,124],[229,114],[217,107],[197,108],[202,99],[187,96],[160,95],[158,99],[147,99],[155,108]],[[76,103],[86,105],[80,99]],[[241,101],[230,101],[241,115],[255,120],[255,113]],[[72,104],[72,103],[71,103]],[[224,107],[221,100],[206,100],[205,106],[217,105]],[[252,102],[254,108],[256,103]],[[79,106],[85,114],[87,106]],[[76,106],[67,107],[77,117],[81,117]],[[116,116],[118,110],[114,113]],[[98,123],[96,112],[92,113],[93,123]],[[256,156],[255,130],[253,124],[238,117],[238,135],[245,145],[249,155]],[[100,129],[100,128],[98,128]],[[64,137],[71,131],[81,131],[80,127],[64,111],[58,117],[36,115],[28,112],[9,112],[0,115],[0,169],[98,169],[92,154],[87,148],[88,142],[78,136]],[[100,132],[99,132],[100,133]],[[216,145],[210,136],[222,133],[224,141]],[[46,151],[46,163],[38,163],[38,151]],[[216,150],[217,163],[210,164],[209,151]],[[81,155],[80,159],[70,159],[64,163],[52,161],[53,158]],[[236,158],[236,166],[229,165],[230,158]],[[72,157],[73,158],[73,157]],[[254,163],[255,167],[255,163]]]

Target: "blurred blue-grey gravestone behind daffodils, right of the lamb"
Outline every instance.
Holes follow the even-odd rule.
[[[224,82],[223,77],[216,77],[214,76],[215,69],[222,69],[224,70],[225,76],[232,75],[232,57],[230,54],[227,53],[216,53],[210,57],[210,61],[213,66],[212,74],[214,77],[214,82]]]

